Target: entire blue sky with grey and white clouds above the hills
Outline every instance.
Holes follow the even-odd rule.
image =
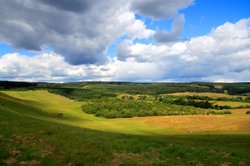
[[[0,80],[250,81],[249,0],[0,4]]]

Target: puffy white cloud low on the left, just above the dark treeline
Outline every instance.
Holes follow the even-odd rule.
[[[24,81],[67,81],[77,76],[84,78],[84,68],[67,64],[62,56],[44,53],[34,57],[18,53],[6,54],[0,59],[0,79]],[[78,79],[80,79],[78,77]]]

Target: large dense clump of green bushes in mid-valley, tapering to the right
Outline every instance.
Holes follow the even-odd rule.
[[[131,118],[164,115],[198,115],[198,114],[229,114],[230,111],[216,111],[179,106],[161,102],[131,100],[131,99],[96,99],[87,102],[82,110],[88,114],[105,118]]]

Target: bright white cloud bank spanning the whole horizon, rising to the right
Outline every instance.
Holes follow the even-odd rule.
[[[250,18],[209,34],[164,45],[126,40],[103,65],[74,66],[53,52],[0,58],[1,80],[250,81]],[[224,35],[221,35],[224,34]]]

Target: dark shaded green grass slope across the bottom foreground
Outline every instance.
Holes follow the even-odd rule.
[[[78,119],[29,104],[0,95],[0,165],[250,164],[250,135],[102,132],[67,125],[60,119]]]

